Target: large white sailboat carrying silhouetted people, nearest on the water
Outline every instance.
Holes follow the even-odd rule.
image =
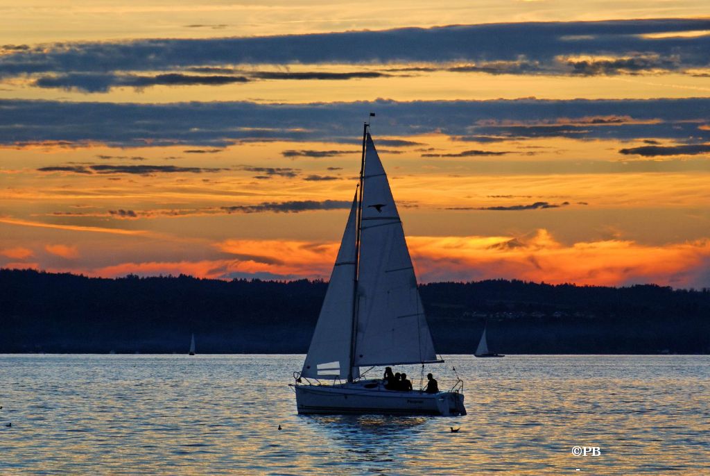
[[[373,114],[371,114],[373,115]],[[298,413],[465,415],[463,382],[450,391],[388,390],[361,367],[444,362],[437,357],[417,279],[368,122],[360,181],[300,372]]]

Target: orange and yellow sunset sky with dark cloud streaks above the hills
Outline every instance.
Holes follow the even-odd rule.
[[[362,123],[422,282],[710,287],[710,4],[0,1],[0,266],[327,278]]]

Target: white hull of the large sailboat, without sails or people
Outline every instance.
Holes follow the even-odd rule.
[[[368,388],[369,387],[369,388]],[[391,415],[465,415],[464,395],[440,391],[387,390],[379,381],[354,384],[295,384],[296,407],[300,414],[379,413]]]

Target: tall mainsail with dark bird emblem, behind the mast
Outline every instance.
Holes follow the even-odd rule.
[[[436,362],[387,175],[366,138],[355,365]]]

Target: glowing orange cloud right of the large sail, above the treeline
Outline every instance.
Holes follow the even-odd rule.
[[[510,237],[411,237],[408,242],[422,281],[707,286],[701,281],[710,264],[709,239],[664,246],[616,239],[565,246],[541,229],[525,242]]]

